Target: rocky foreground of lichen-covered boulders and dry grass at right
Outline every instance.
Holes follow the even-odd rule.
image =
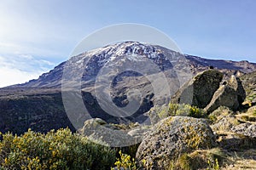
[[[191,87],[192,100],[176,104]],[[138,142],[138,169],[255,169],[256,106],[244,104],[246,97],[240,78],[203,71],[177,92],[167,109],[148,112],[151,126],[93,119],[84,122],[81,133],[107,145],[113,144],[111,138],[133,139],[135,146]],[[90,131],[96,126],[105,130]]]

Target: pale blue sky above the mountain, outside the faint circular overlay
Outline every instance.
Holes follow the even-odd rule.
[[[0,87],[37,78],[91,32],[121,23],[153,26],[184,54],[256,63],[255,8],[253,0],[2,0]]]

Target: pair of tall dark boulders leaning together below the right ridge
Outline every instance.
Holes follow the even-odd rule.
[[[232,75],[224,81],[224,74],[217,70],[202,71],[185,83],[172,97],[172,103],[195,105],[208,113],[219,106],[236,111],[246,99],[241,80]]]

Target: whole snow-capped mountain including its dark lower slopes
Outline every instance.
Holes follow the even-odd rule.
[[[256,64],[248,61],[203,59],[142,42],[96,48],[36,80],[1,88],[0,131],[23,133],[31,127],[47,132],[67,126],[75,130],[90,117],[145,122],[144,112],[168,104],[184,82],[209,67],[236,76],[256,71]],[[67,114],[67,107],[73,112]],[[77,122],[70,122],[70,116]]]

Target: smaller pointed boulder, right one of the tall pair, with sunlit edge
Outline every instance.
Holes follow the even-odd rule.
[[[228,82],[224,82],[214,93],[211,102],[205,107],[205,111],[215,111],[219,106],[226,106],[236,111],[246,98],[246,93],[239,78],[231,76]]]

